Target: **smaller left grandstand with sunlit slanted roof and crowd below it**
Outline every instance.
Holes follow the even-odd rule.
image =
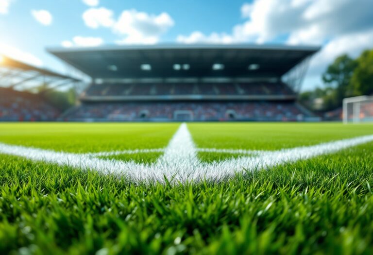
[[[61,114],[43,95],[79,82],[70,76],[0,56],[0,121],[53,121]],[[38,87],[34,93],[27,91]]]

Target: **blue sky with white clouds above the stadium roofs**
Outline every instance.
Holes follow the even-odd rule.
[[[0,0],[0,53],[66,72],[48,46],[322,45],[304,89],[341,53],[373,48],[372,0]]]

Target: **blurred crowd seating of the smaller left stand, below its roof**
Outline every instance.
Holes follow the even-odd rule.
[[[0,87],[0,121],[50,121],[59,114],[38,95]]]

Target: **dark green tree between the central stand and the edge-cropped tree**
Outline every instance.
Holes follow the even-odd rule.
[[[345,97],[350,97],[354,93],[351,86],[351,77],[356,68],[356,61],[349,57],[347,54],[341,55],[328,66],[326,71],[322,74],[322,81],[335,89],[335,98],[329,99],[329,107],[337,107],[342,103]],[[334,103],[332,103],[334,102]],[[334,104],[334,105],[333,105]]]

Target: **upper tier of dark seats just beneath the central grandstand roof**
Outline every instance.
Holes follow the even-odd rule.
[[[90,85],[86,96],[157,95],[293,95],[283,83],[205,83],[205,84],[99,84]]]

